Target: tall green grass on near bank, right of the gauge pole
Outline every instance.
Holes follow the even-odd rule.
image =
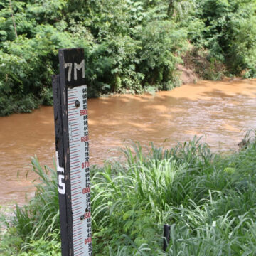
[[[255,150],[252,142],[221,156],[198,139],[169,151],[152,146],[148,156],[136,144],[125,149],[124,164],[106,163],[92,178],[94,238],[103,243],[96,253],[107,255],[110,245],[110,255],[164,255],[161,228],[169,223],[165,255],[250,255]]]

